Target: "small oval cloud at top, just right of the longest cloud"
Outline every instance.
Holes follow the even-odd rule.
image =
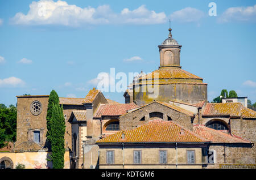
[[[196,8],[186,7],[182,10],[175,11],[170,15],[172,21],[177,21],[180,23],[191,23],[199,22],[205,16],[204,12],[197,10]]]

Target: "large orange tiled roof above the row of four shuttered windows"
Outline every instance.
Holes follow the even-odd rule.
[[[122,134],[125,138],[122,139]],[[106,136],[97,143],[150,143],[150,142],[209,142],[192,131],[183,128],[172,121],[157,119],[134,130],[119,131]]]

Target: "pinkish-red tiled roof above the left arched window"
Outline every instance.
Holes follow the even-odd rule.
[[[100,118],[102,115],[105,116],[116,116],[122,115],[129,109],[136,108],[137,105],[134,103],[130,104],[101,104],[100,107],[94,114],[94,117]]]

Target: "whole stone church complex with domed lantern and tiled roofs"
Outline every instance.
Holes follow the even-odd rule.
[[[255,168],[256,112],[241,102],[209,103],[203,78],[181,69],[171,31],[158,46],[158,70],[134,79],[124,104],[95,88],[85,98],[60,97],[65,168]],[[16,164],[18,153],[27,164],[45,161],[48,97],[17,96],[17,141],[0,162]],[[30,153],[42,157],[31,162]]]

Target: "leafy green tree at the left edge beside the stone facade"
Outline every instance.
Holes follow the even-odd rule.
[[[16,141],[16,119],[17,109],[14,105],[7,108],[0,104],[0,148],[6,145],[4,142]]]

